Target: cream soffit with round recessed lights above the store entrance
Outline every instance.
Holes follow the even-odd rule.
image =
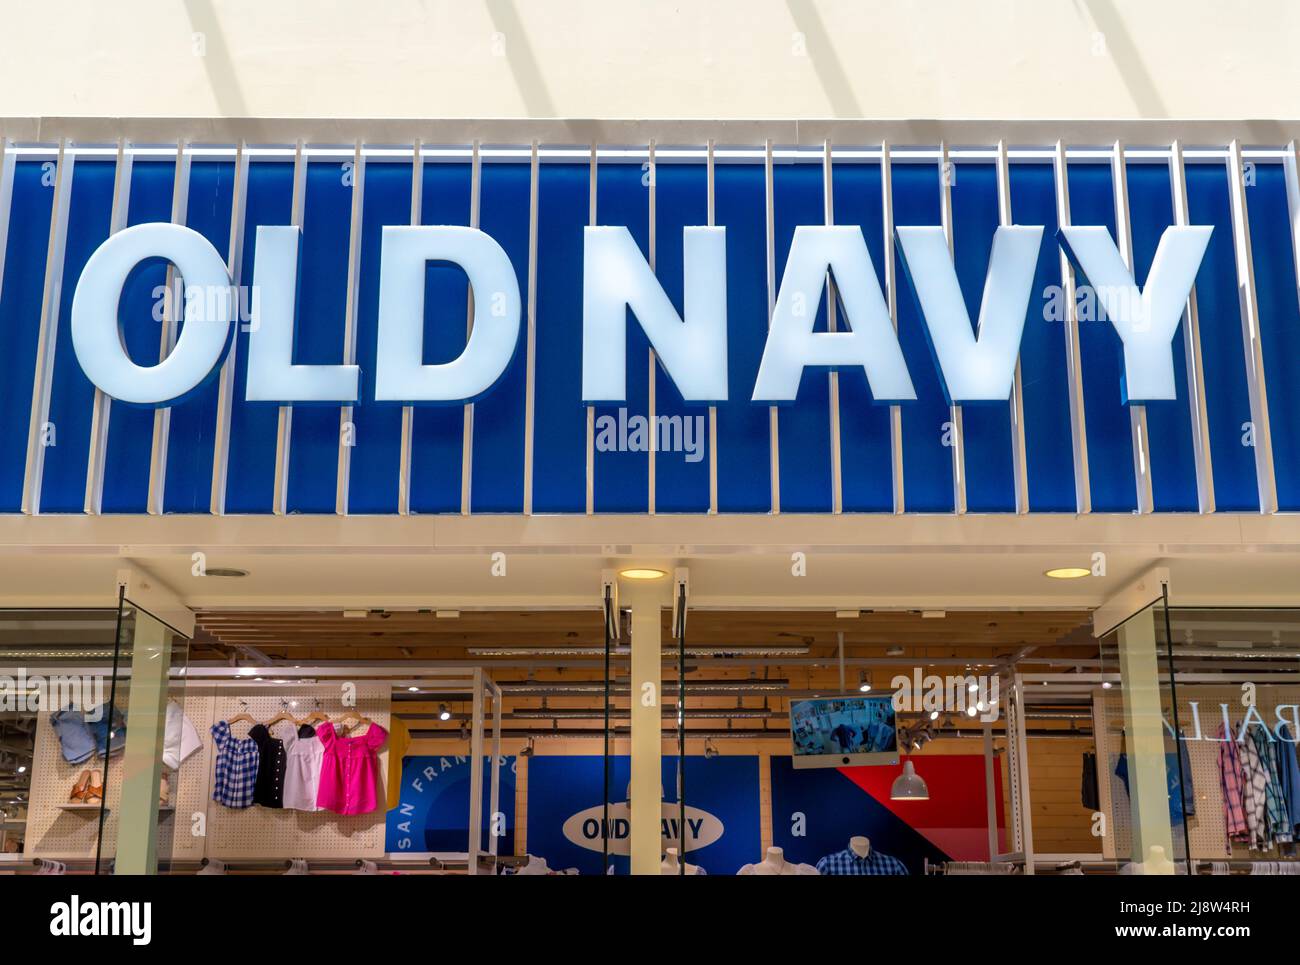
[[[1153,557],[1109,553],[1105,576],[1053,580],[1044,571],[1088,564],[1087,555],[1004,553],[807,553],[806,575],[784,551],[628,554],[504,550],[504,575],[490,554],[373,554],[213,550],[209,567],[243,579],[194,574],[187,553],[4,553],[5,606],[110,605],[116,575],[133,562],[194,607],[572,607],[597,606],[601,571],[650,563],[686,566],[694,606],[816,609],[1096,607],[1157,562],[1169,567],[1175,603],[1300,602],[1300,553]]]

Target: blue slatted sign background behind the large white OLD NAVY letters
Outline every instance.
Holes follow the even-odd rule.
[[[46,163],[20,160],[14,165],[8,246],[0,260],[0,330],[6,352],[0,358],[0,430],[25,438],[38,355],[38,333],[46,284],[51,199]],[[915,308],[910,280],[884,242],[880,165],[838,160],[832,165],[835,221],[858,225],[871,251],[878,276],[888,258],[896,259],[900,341],[915,382],[916,402],[902,408],[905,506],[915,512],[953,510],[952,454],[937,430],[948,419],[933,359]],[[1253,242],[1253,271],[1260,302],[1260,338],[1265,347],[1268,406],[1273,416],[1273,459],[1282,510],[1300,509],[1300,420],[1292,419],[1300,399],[1300,306],[1296,302],[1294,242],[1286,179],[1278,163],[1253,165],[1254,183],[1245,194]],[[668,298],[681,310],[681,226],[705,224],[707,178],[703,165],[660,163],[655,229],[659,248],[656,274]],[[1161,231],[1173,222],[1169,169],[1165,164],[1128,164],[1127,189],[1132,215],[1136,281],[1144,285]],[[73,294],[91,252],[108,237],[116,165],[83,157],[73,172],[68,209],[68,246],[62,264],[64,297],[56,326],[56,354],[49,384],[49,421],[57,445],[44,454],[42,505],[44,512],[84,510],[95,389],[82,373],[72,347]],[[935,163],[894,164],[890,183],[894,222],[940,222],[942,182]],[[528,237],[530,204],[528,164],[482,165],[482,228],[506,250],[520,289],[536,282],[536,393],[533,399],[534,469],[532,498],[536,512],[581,514],[586,506],[586,407],[581,403],[582,229],[588,222],[590,166],[585,163],[542,164],[537,187],[536,278],[529,278]],[[468,224],[472,187],[467,163],[428,163],[422,168],[422,224]],[[625,225],[645,247],[649,202],[640,163],[598,166],[598,221]],[[348,511],[398,511],[402,456],[402,411],[372,401],[377,339],[378,264],[382,228],[408,224],[412,165],[372,164],[365,176],[358,284],[358,360],[363,368],[356,450],[348,488]],[[176,164],[138,157],[131,173],[127,221],[166,221],[170,216]],[[727,226],[727,328],[729,399],[718,415],[718,509],[720,512],[798,512],[832,510],[831,402],[822,373],[806,373],[796,406],[781,407],[780,505],[771,485],[768,407],[750,403],[754,375],[767,336],[771,293],[767,273],[767,191],[762,164],[720,164],[715,169],[716,224]],[[816,163],[777,164],[774,170],[775,277],[780,278],[794,228],[822,224],[824,172]],[[1115,230],[1114,183],[1108,164],[1072,160],[1067,172],[1070,215],[1076,225],[1105,225]],[[304,224],[299,324],[295,359],[338,363],[343,343],[347,299],[352,189],[339,177],[335,161],[315,160],[304,177]],[[234,165],[229,160],[199,160],[190,168],[187,225],[221,252],[230,246],[230,205]],[[243,272],[246,285],[257,285],[256,234],[263,225],[290,221],[294,165],[259,160],[248,172],[244,212]],[[1041,224],[1040,251],[1028,308],[1020,363],[1024,377],[1024,436],[1030,510],[1075,510],[1072,449],[1065,351],[1065,326],[1045,320],[1048,304],[1061,285],[1060,252],[1053,241],[1056,185],[1049,161],[1017,159],[1010,164],[1011,209],[1018,224]],[[1242,343],[1236,263],[1232,246],[1228,178],[1222,161],[1187,165],[1187,196],[1192,224],[1212,225],[1205,260],[1196,277],[1200,313],[1206,417],[1213,455],[1217,507],[1225,512],[1258,511],[1254,450],[1242,445],[1242,424],[1251,419]],[[993,231],[998,224],[997,173],[987,161],[958,161],[952,182],[957,274],[967,307],[978,311]],[[142,269],[124,291],[124,337],[139,364],[157,359],[157,323],[152,320],[157,265]],[[464,345],[465,282],[450,267],[430,265],[425,304],[425,347],[430,359],[454,358]],[[826,299],[816,324],[824,329]],[[268,514],[274,507],[277,407],[243,401],[247,381],[248,333],[237,334],[234,404],[230,416],[226,477],[228,512]],[[1136,494],[1128,412],[1121,390],[1121,342],[1106,323],[1079,326],[1083,397],[1092,509],[1132,512]],[[1173,341],[1178,372],[1178,402],[1148,407],[1154,509],[1195,511],[1195,464],[1187,404],[1187,372],[1182,334]],[[646,358],[649,343],[640,328],[628,330],[628,408],[645,414],[650,373],[634,359]],[[653,375],[656,406],[663,414],[707,415],[707,406],[682,402],[663,371]],[[214,459],[218,380],[172,408],[164,511],[207,514]],[[471,454],[472,512],[521,512],[524,484],[524,427],[526,358],[516,356],[494,389],[476,404],[472,443],[464,449],[464,420],[459,407],[417,407],[411,451],[411,511],[456,512],[460,506],[462,456]],[[890,433],[888,407],[872,404],[861,369],[840,376],[840,458],[845,512],[890,512]],[[295,406],[290,447],[287,505],[290,512],[333,514],[338,471],[338,407]],[[607,412],[608,407],[601,407]],[[1006,406],[967,406],[965,415],[966,496],[972,512],[1011,512],[1015,509],[1011,432]],[[147,411],[113,404],[105,450],[103,506],[105,512],[142,514],[147,510],[148,466],[153,420]],[[0,451],[0,511],[22,507],[26,466],[22,446]],[[592,467],[597,512],[645,512],[649,509],[645,453],[597,453]],[[686,463],[680,453],[655,454],[656,505],[673,512],[708,509],[710,454]]]

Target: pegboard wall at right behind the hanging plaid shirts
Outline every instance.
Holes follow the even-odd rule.
[[[1167,698],[1166,698],[1167,700]],[[1183,741],[1187,747],[1187,758],[1192,767],[1192,797],[1196,801],[1196,814],[1187,818],[1188,841],[1193,860],[1223,860],[1223,858],[1286,858],[1287,854],[1278,852],[1247,852],[1238,844],[1234,845],[1227,839],[1227,823],[1223,817],[1223,788],[1219,782],[1218,748],[1216,740],[1196,740],[1196,730],[1192,720],[1191,704],[1195,702],[1200,710],[1201,736],[1217,737],[1218,728],[1223,723],[1223,713],[1219,707],[1226,704],[1228,717],[1238,724],[1245,715],[1242,705],[1240,687],[1197,687],[1180,685],[1178,688],[1178,723],[1183,734],[1190,740]],[[1300,704],[1300,688],[1296,687],[1269,687],[1260,685],[1256,693],[1256,706],[1270,727],[1277,726],[1274,707],[1278,705]],[[1166,707],[1166,719],[1173,724],[1173,715]],[[1119,754],[1124,753],[1124,706],[1123,694],[1115,691],[1104,691],[1097,700],[1097,769],[1101,808],[1106,815],[1109,834],[1102,839],[1102,852],[1108,858],[1127,860],[1132,852],[1132,814],[1130,812],[1128,795],[1123,782],[1115,776],[1114,766]],[[1292,735],[1296,736],[1296,735]],[[1173,752],[1173,741],[1167,739],[1166,749]],[[1174,826],[1174,853],[1183,857],[1182,827]]]

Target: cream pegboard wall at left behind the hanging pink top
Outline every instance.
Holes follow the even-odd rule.
[[[355,710],[389,728],[390,687],[386,683],[356,683]],[[290,706],[292,701],[298,706]],[[333,814],[273,808],[226,808],[212,800],[216,748],[212,724],[239,713],[256,720],[269,720],[286,709],[303,718],[317,706],[332,719],[344,710],[339,685],[256,688],[240,692],[230,687],[191,684],[179,701],[199,731],[200,747],[172,773],[172,805],[159,815],[159,858],[177,861],[220,858],[324,858],[374,857],[384,853],[384,792],[389,748],[378,753],[380,808],[370,814]],[[122,701],[118,701],[121,705]],[[126,707],[122,707],[124,713]],[[237,737],[248,736],[250,723],[233,727]],[[359,731],[360,732],[360,731]],[[117,840],[117,767],[121,756],[109,763],[105,800],[109,814],[104,826],[104,854],[113,854]],[[60,805],[77,782],[84,765],[69,765],[60,753],[58,737],[42,713],[36,723],[32,758],[31,806],[27,810],[27,851],[52,858],[94,857],[99,831],[98,812],[65,812]],[[103,765],[92,765],[101,767]]]

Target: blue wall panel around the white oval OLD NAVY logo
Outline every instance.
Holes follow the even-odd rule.
[[[610,804],[628,799],[629,760],[611,758]],[[554,869],[576,867],[582,874],[601,874],[601,852],[582,848],[564,836],[564,822],[588,808],[601,806],[602,758],[533,757],[528,762],[528,852],[546,858]],[[723,835],[688,861],[708,874],[736,874],[742,865],[758,861],[759,830],[758,757],[686,757],[686,805],[718,818]],[[676,801],[677,758],[663,758],[664,801]],[[620,828],[615,828],[615,835]],[[625,830],[621,830],[625,834]],[[599,838],[594,844],[599,847]],[[628,873],[625,856],[611,856],[616,874]]]

